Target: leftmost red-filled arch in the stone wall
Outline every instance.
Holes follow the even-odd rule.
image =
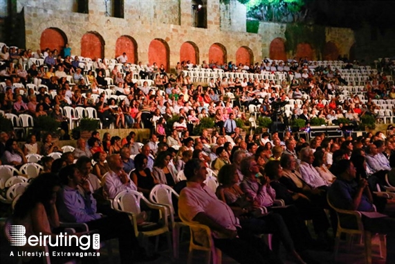
[[[67,36],[59,28],[46,28],[40,37],[40,49],[42,51],[48,48],[51,51],[57,49],[58,53],[61,53],[66,43],[68,43]]]

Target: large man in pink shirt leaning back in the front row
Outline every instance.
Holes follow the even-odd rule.
[[[239,263],[282,263],[260,238],[241,229],[232,209],[203,184],[207,170],[199,159],[187,161],[187,186],[178,200],[178,214],[212,229],[215,247]]]

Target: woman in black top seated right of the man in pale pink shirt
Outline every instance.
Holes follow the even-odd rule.
[[[136,184],[137,191],[148,197],[151,189],[158,184],[158,181],[151,175],[151,170],[147,168],[147,156],[143,154],[136,155],[134,157],[134,165],[136,169],[131,171],[130,178]]]

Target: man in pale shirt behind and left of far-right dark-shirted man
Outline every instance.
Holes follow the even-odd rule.
[[[309,184],[311,188],[327,188],[327,183],[322,179],[320,173],[313,167],[314,155],[313,150],[309,147],[300,150],[300,175],[304,182]]]

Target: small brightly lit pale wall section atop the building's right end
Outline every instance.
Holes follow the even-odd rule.
[[[228,5],[221,3],[221,30],[246,32],[247,8],[237,0],[231,0]]]

